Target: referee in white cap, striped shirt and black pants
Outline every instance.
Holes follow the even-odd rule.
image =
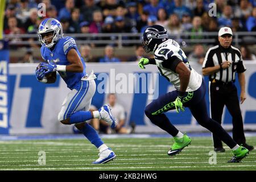
[[[210,115],[212,119],[221,123],[224,105],[232,115],[233,139],[242,144],[249,151],[253,146],[246,144],[243,133],[243,120],[240,104],[237,96],[237,88],[234,85],[236,72],[241,86],[241,104],[246,99],[245,93],[245,65],[243,65],[242,55],[238,48],[231,46],[232,30],[229,27],[222,27],[218,32],[217,46],[209,48],[203,63],[203,75],[209,75],[209,97]],[[214,151],[225,152],[221,140],[217,135],[213,135]]]

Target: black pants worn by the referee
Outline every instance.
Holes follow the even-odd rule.
[[[223,84],[221,82],[210,83],[210,113],[212,119],[221,124],[224,105],[232,115],[233,139],[238,143],[245,143],[243,133],[243,119],[237,96],[237,88],[233,82]],[[222,148],[222,142],[218,135],[213,134],[214,148]]]

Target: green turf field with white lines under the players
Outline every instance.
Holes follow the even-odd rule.
[[[217,153],[217,164],[209,164],[210,137],[192,138],[192,144],[170,157],[168,138],[104,139],[117,158],[106,164],[91,164],[98,150],[85,139],[1,140],[1,170],[256,170],[256,150],[241,163],[227,163],[232,154]],[[256,137],[247,137],[250,144]],[[38,152],[46,152],[46,166],[38,164]]]

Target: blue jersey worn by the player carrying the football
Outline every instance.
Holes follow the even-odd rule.
[[[74,73],[74,72],[59,72],[60,76],[66,82],[69,89],[79,88],[81,84],[81,78],[86,75],[85,72],[85,61],[81,57],[79,49],[76,46],[76,42],[70,36],[65,36],[61,38],[55,45],[53,51],[51,49],[42,46],[41,47],[41,55],[44,60],[47,60],[48,63],[57,64],[57,65],[69,65],[67,55],[70,49],[76,49],[81,61],[82,65],[84,66],[84,71],[81,73]]]

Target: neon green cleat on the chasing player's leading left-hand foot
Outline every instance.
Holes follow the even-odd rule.
[[[171,149],[168,151],[168,155],[176,155],[183,150],[183,148],[187,147],[191,143],[191,138],[184,134],[183,138],[176,138],[174,137],[174,144],[172,144]]]

